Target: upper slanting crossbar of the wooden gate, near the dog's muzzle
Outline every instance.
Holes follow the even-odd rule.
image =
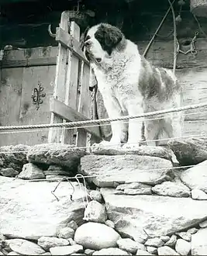
[[[76,55],[81,59],[81,61],[85,61],[88,63],[88,61],[85,58],[84,53],[81,50],[80,43],[78,40],[75,40],[72,35],[69,33],[65,32],[61,28],[56,29],[56,40],[58,43],[61,43],[64,45],[64,47],[69,48],[72,50],[73,54]]]

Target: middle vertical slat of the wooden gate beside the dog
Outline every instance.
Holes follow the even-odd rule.
[[[74,39],[80,39],[80,28],[75,22],[71,22],[71,35]],[[68,54],[68,67],[67,67],[67,81],[66,81],[66,95],[65,104],[77,109],[77,94],[78,94],[78,57],[72,54],[69,50]],[[74,135],[76,129],[64,130],[64,144],[74,144]]]

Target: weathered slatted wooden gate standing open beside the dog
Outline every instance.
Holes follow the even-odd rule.
[[[81,51],[80,28],[75,22],[70,22],[67,11],[61,15],[56,40],[58,53],[53,97],[50,99],[50,123],[90,119],[90,66]],[[99,137],[98,127],[50,128],[48,142],[85,147],[88,133]]]

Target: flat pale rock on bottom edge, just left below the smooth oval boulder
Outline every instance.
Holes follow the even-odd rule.
[[[83,251],[83,247],[80,244],[57,246],[50,248],[50,253],[52,255],[70,255],[81,251]]]

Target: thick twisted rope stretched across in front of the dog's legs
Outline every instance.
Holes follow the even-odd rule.
[[[86,121],[78,121],[78,122],[69,122],[69,123],[50,123],[50,124],[36,124],[36,125],[26,125],[26,126],[0,126],[1,130],[27,130],[27,129],[39,129],[39,128],[51,128],[51,127],[75,127],[78,126],[78,128],[81,128],[81,126],[88,125],[88,124],[96,124],[99,125],[105,124],[105,123],[111,123],[115,121],[122,121],[126,119],[136,119],[136,118],[142,118],[147,116],[159,116],[164,115],[170,112],[181,112],[189,109],[198,109],[207,106],[207,102],[199,103],[191,106],[182,106],[178,108],[173,109],[164,109],[164,110],[158,110],[154,112],[146,112],[140,115],[135,116],[120,116],[116,118],[106,118],[106,119],[92,119],[92,120],[86,120]]]

